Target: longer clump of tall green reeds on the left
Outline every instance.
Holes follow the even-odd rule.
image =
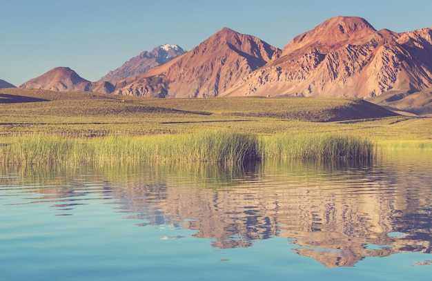
[[[194,134],[111,135],[73,139],[55,135],[6,138],[0,145],[3,164],[53,162],[218,162],[242,164],[260,157],[257,137],[230,130]]]

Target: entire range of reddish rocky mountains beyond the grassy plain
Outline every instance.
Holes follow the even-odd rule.
[[[166,60],[166,53],[157,55],[164,46],[97,82],[55,68],[21,87],[150,97],[357,97],[432,113],[432,28],[397,33],[360,17],[333,17],[282,50],[229,28],[189,52],[177,47]]]

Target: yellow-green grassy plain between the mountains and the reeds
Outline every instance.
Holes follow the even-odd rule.
[[[322,136],[344,136],[343,142],[369,139],[392,149],[432,149],[431,125],[431,118],[394,115],[358,99],[155,99],[21,88],[0,90],[0,145],[35,141],[39,135],[39,139],[51,142],[52,151],[58,149],[55,157],[63,157],[67,151],[65,147],[55,148],[59,139],[77,139],[66,146],[82,143],[83,139],[108,146],[115,143],[112,137],[128,136],[121,139],[121,144],[135,146],[133,137],[156,135],[159,139],[154,142],[160,144],[163,139],[205,135],[215,130],[219,135],[221,130],[237,137],[255,135],[267,147],[300,135],[299,139],[306,136],[311,143],[321,142]],[[101,138],[107,136],[111,139]],[[41,149],[38,146],[33,151]]]

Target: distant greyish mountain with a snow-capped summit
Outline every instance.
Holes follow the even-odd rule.
[[[137,76],[157,68],[168,61],[183,55],[186,51],[178,45],[165,44],[158,46],[150,52],[144,51],[137,57],[132,57],[126,61],[121,67],[108,72],[99,81],[121,80],[127,77]]]

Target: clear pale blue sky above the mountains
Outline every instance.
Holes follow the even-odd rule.
[[[430,0],[0,0],[0,79],[19,86],[67,66],[97,81],[144,50],[191,50],[224,27],[283,48],[338,15],[406,32],[431,27],[431,11]]]

